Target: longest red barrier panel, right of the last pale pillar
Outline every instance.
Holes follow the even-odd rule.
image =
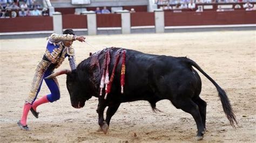
[[[256,11],[165,12],[165,26],[256,24]]]

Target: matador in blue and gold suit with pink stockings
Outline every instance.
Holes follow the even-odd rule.
[[[29,130],[28,125],[26,125],[26,119],[29,111],[31,111],[33,116],[38,118],[38,112],[36,111],[38,105],[48,102],[52,103],[60,98],[57,78],[44,78],[51,75],[54,69],[62,65],[62,62],[66,57],[69,58],[71,70],[76,69],[75,49],[72,47],[73,41],[75,40],[84,42],[85,37],[75,35],[75,32],[71,29],[65,30],[63,34],[53,33],[48,38],[45,53],[42,60],[38,63],[33,76],[29,96],[25,99],[21,120],[17,123],[22,130]],[[43,80],[51,93],[36,100]]]

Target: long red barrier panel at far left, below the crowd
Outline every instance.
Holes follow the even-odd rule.
[[[0,32],[52,31],[52,17],[0,18]]]

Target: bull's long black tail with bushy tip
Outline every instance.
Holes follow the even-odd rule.
[[[227,119],[230,120],[230,124],[235,127],[234,123],[235,124],[238,124],[237,123],[237,119],[235,118],[235,115],[234,115],[234,112],[233,112],[233,109],[232,109],[232,106],[230,104],[230,100],[228,99],[227,95],[226,95],[226,92],[220,88],[220,86],[210,77],[208,76],[205,71],[203,69],[201,69],[196,62],[190,60],[190,59],[187,59],[185,58],[186,62],[188,62],[191,66],[195,67],[196,69],[198,69],[204,76],[206,76],[208,78],[208,80],[210,80],[214,85],[215,87],[217,88],[218,92],[219,92],[219,97],[220,97],[220,101],[221,101],[221,104],[223,106],[223,110],[227,116]]]

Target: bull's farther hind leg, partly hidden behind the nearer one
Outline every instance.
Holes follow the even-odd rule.
[[[201,118],[202,118],[202,121],[203,121],[203,125],[204,125],[204,128],[206,130],[206,125],[205,125],[205,120],[206,120],[206,102],[201,99],[200,97],[198,97],[197,99],[193,99],[193,101],[198,105],[199,107],[199,112],[200,112],[200,115],[201,115]]]

